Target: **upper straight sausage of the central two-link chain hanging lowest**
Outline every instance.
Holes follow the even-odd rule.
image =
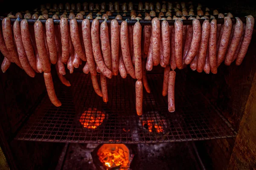
[[[135,77],[136,79],[142,79],[142,62],[141,62],[141,31],[142,27],[140,22],[137,21],[134,25],[134,56],[135,56]],[[154,49],[153,49],[154,50]],[[153,63],[154,63],[154,53],[153,53]]]

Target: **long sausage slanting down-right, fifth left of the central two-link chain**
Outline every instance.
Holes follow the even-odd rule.
[[[90,35],[90,20],[88,19],[83,20],[82,33],[83,33],[83,39],[84,39],[85,54],[87,57],[90,74],[93,74],[94,76],[96,76],[97,75],[96,64],[93,57],[93,48],[91,44],[91,35]]]

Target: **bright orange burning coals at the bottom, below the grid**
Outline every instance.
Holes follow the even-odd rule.
[[[108,144],[112,146],[112,144]],[[107,167],[128,167],[130,164],[128,152],[120,147],[105,147],[98,151],[99,160]]]

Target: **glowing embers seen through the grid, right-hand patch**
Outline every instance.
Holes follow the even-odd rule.
[[[142,126],[145,127],[145,125],[148,126],[148,131],[153,132],[155,130],[157,133],[163,132],[164,127],[167,125],[166,119],[161,119],[159,113],[152,114],[152,115],[146,115],[140,117],[140,121],[142,122]]]

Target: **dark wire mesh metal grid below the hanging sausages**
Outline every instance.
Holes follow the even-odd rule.
[[[181,142],[235,137],[236,131],[192,85],[175,85],[176,111],[169,113],[163,97],[162,74],[148,74],[151,94],[143,92],[143,116],[135,110],[135,80],[108,79],[109,102],[93,90],[90,75],[73,73],[71,87],[59,81],[55,89],[62,106],[56,108],[45,96],[15,139],[76,143],[154,143]],[[98,76],[99,79],[99,76]],[[99,83],[100,84],[100,83]],[[187,83],[186,83],[187,84]],[[96,129],[81,126],[81,113],[94,108],[104,111],[105,119]],[[102,117],[97,117],[102,119]],[[89,117],[89,121],[96,119]],[[143,122],[150,122],[144,126]],[[152,132],[148,127],[152,126]],[[160,133],[158,133],[161,131]]]

